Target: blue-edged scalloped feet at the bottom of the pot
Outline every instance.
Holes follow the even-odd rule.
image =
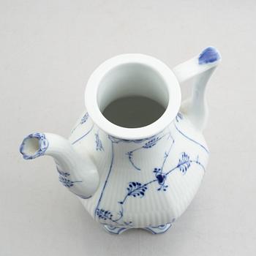
[[[165,233],[170,227],[172,226],[171,223],[167,223],[165,225],[159,225],[157,227],[144,227],[143,230],[147,230],[151,232],[154,235]],[[107,231],[110,234],[119,235],[123,233],[126,230],[129,230],[133,227],[116,227],[111,225],[103,225],[105,231]]]

